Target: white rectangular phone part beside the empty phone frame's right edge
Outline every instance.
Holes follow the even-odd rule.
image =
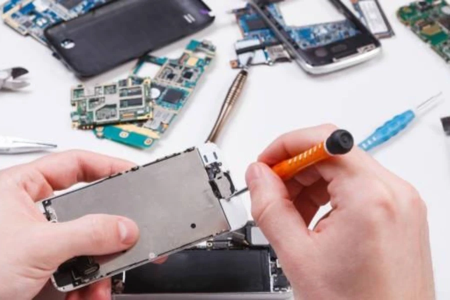
[[[378,0],[351,0],[351,2],[359,18],[373,35],[377,38],[394,35]]]

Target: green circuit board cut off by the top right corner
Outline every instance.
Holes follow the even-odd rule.
[[[445,1],[412,2],[400,7],[397,17],[446,62],[450,61],[450,6]]]

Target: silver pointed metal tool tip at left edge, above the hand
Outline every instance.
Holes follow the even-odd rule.
[[[0,136],[0,154],[36,152],[56,148],[56,146],[55,144],[37,140]]]

